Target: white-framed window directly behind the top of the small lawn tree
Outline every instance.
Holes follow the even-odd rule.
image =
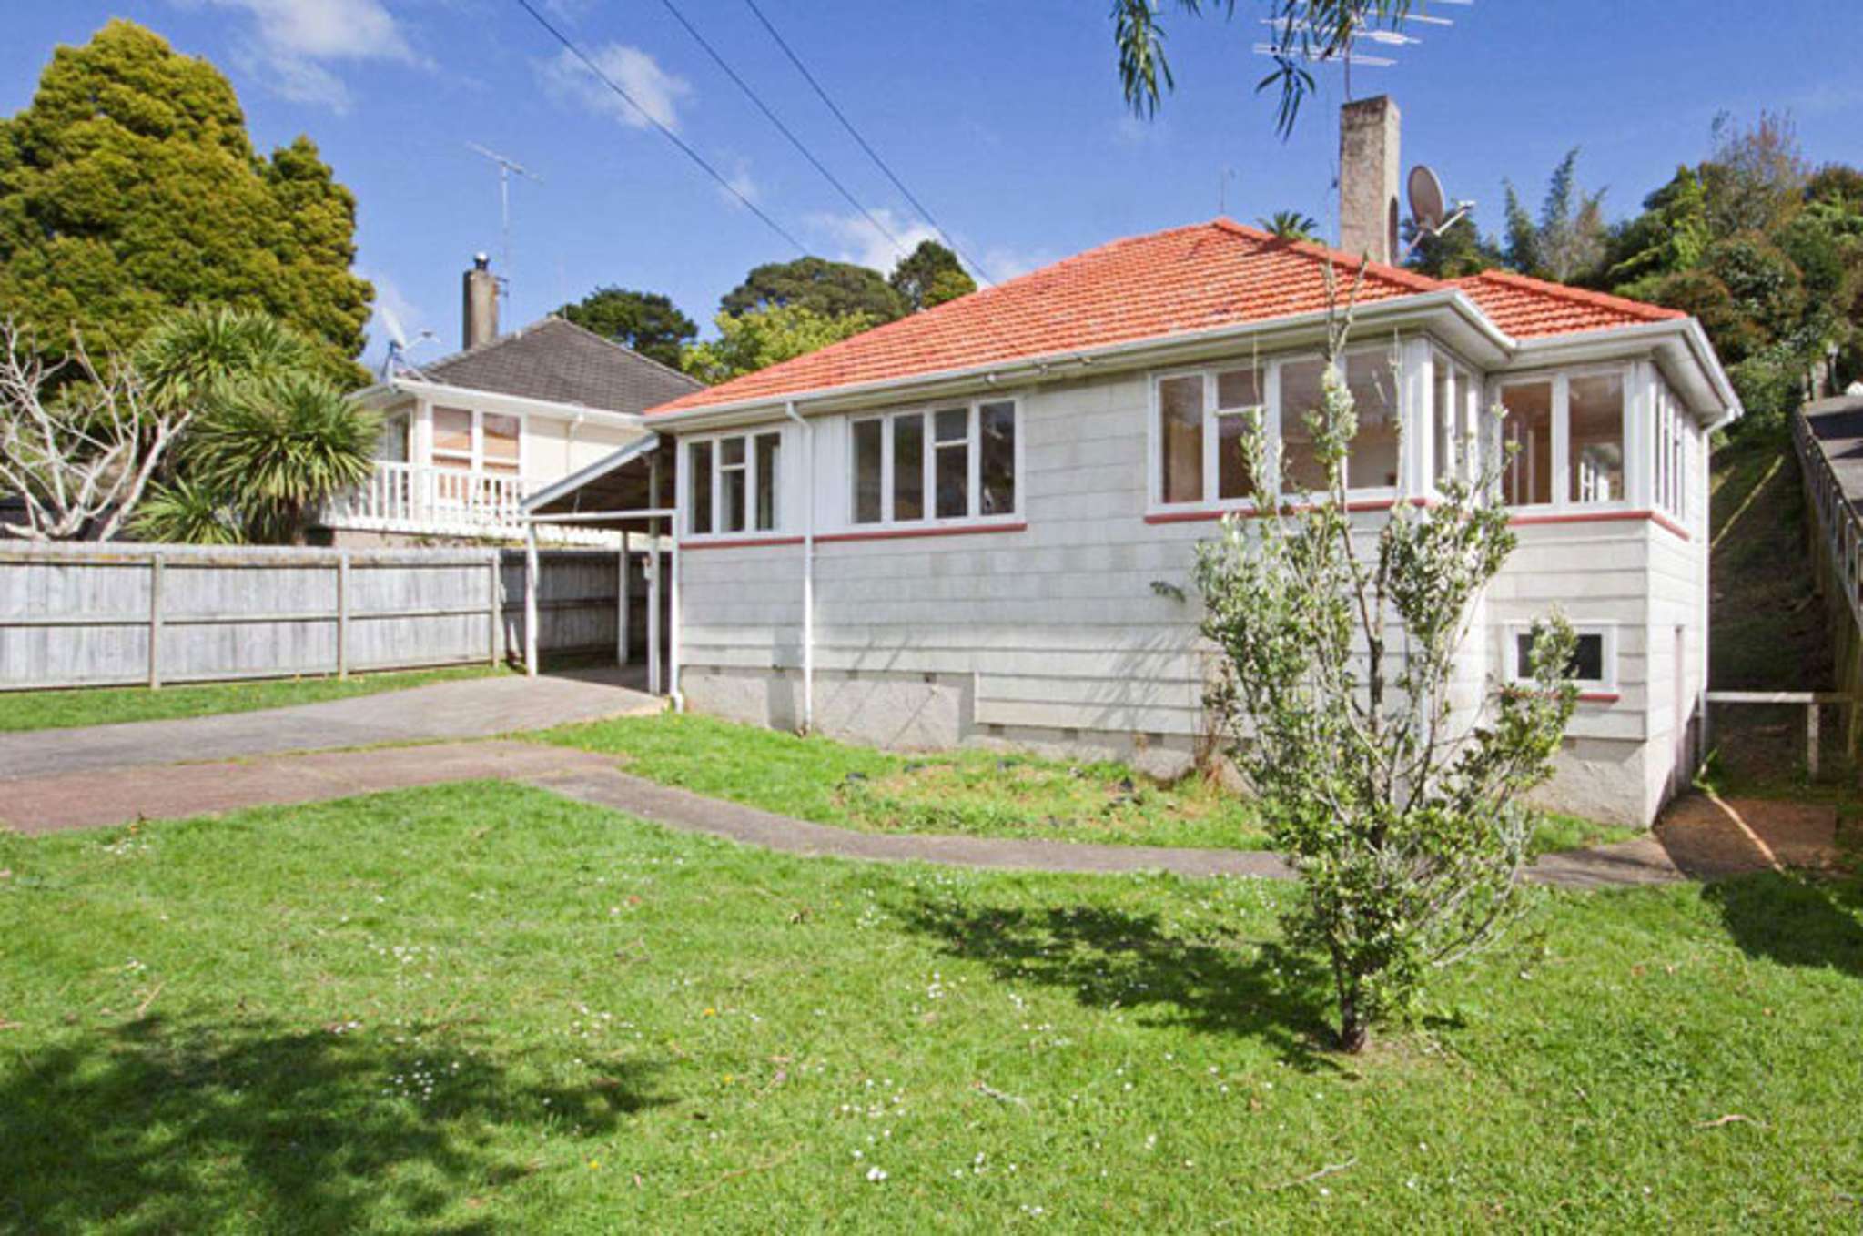
[[[1412,433],[1403,425],[1403,418],[1408,414],[1405,406],[1405,384],[1408,377],[1408,362],[1403,354],[1408,350],[1408,339],[1377,345],[1360,345],[1345,350],[1345,360],[1353,356],[1366,354],[1390,354],[1392,347],[1399,349],[1399,371],[1394,375],[1394,401],[1397,410],[1397,485],[1353,485],[1351,462],[1347,460],[1347,496],[1354,501],[1382,501],[1397,500],[1403,488],[1407,468],[1410,468],[1410,459],[1418,449],[1412,444]],[[1203,362],[1198,365],[1181,365],[1176,369],[1155,369],[1148,375],[1146,386],[1146,513],[1148,515],[1177,515],[1177,513],[1198,513],[1198,511],[1256,511],[1259,509],[1258,496],[1248,498],[1218,498],[1217,479],[1220,475],[1220,418],[1224,416],[1243,416],[1252,408],[1217,408],[1217,375],[1233,373],[1237,369],[1254,369],[1259,373],[1261,388],[1261,406],[1254,408],[1259,412],[1261,421],[1267,429],[1267,455],[1269,455],[1269,474],[1278,481],[1285,479],[1282,474],[1282,367],[1297,365],[1302,362],[1325,362],[1323,352],[1302,350],[1302,352],[1282,352],[1274,356],[1250,356],[1250,358],[1231,358],[1222,362]],[[1164,401],[1161,390],[1164,382],[1172,378],[1202,377],[1203,378],[1203,496],[1192,501],[1164,501]],[[1319,494],[1313,490],[1280,490],[1278,500],[1312,501]]]

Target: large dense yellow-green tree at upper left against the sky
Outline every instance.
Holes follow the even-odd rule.
[[[0,119],[0,304],[45,347],[73,330],[127,350],[164,313],[272,313],[339,382],[374,289],[350,272],[356,199],[309,138],[261,158],[233,86],[112,21],[60,47],[32,104]]]

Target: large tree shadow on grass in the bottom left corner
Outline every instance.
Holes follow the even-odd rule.
[[[76,1031],[0,1066],[0,1230],[490,1230],[440,1215],[533,1171],[496,1141],[609,1132],[667,1102],[650,1072],[550,1087],[456,1038],[158,1016]]]

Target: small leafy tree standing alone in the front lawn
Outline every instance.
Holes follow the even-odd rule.
[[[1289,938],[1330,962],[1339,1046],[1358,1051],[1431,968],[1490,941],[1518,908],[1535,818],[1524,794],[1550,776],[1576,690],[1574,636],[1554,615],[1535,626],[1530,684],[1489,708],[1487,688],[1457,697],[1457,651],[1515,546],[1505,509],[1485,500],[1492,470],[1466,460],[1440,503],[1399,501],[1375,533],[1353,531],[1351,317],[1334,298],[1321,406],[1306,412],[1326,492],[1224,520],[1198,546],[1196,587],[1224,654],[1211,705],[1300,874]],[[1272,490],[1261,425],[1244,449]]]

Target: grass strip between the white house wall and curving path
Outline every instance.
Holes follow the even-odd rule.
[[[764,811],[870,833],[969,833],[1261,850],[1248,805],[1203,777],[1163,785],[1123,764],[1006,751],[900,755],[697,714],[570,725],[548,742],[605,751],[628,772]],[[1535,852],[1639,830],[1550,817]]]

